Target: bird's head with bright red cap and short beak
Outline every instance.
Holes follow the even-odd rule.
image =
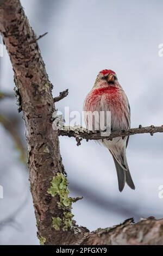
[[[116,73],[110,69],[104,69],[97,75],[94,87],[115,86],[118,84]]]

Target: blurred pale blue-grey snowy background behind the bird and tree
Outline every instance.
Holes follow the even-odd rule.
[[[22,0],[37,35],[53,94],[69,88],[57,108],[82,112],[83,101],[102,69],[116,71],[131,107],[131,126],[162,125],[163,43],[161,0]],[[1,40],[1,39],[0,39]],[[0,41],[2,42],[2,40]],[[0,90],[13,92],[14,81],[7,52],[0,57]],[[24,139],[24,124],[15,99],[0,102],[0,113],[17,120]],[[95,142],[77,147],[73,138],[60,138],[60,149],[73,196],[78,224],[90,230],[134,217],[162,217],[163,137],[131,136],[128,163],[136,190],[120,193],[114,162]],[[14,142],[0,125],[0,244],[37,245],[36,222],[29,192],[28,171],[20,162]]]

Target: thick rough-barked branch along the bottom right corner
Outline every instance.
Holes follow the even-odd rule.
[[[111,228],[86,234],[84,245],[162,245],[163,220],[143,218],[133,224],[133,218]]]

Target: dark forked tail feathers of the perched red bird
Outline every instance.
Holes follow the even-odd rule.
[[[132,189],[135,190],[135,185],[134,182],[131,178],[131,174],[129,169],[128,170],[124,170],[120,164],[117,162],[117,160],[115,159],[115,157],[113,156],[114,162],[115,162],[115,167],[116,167],[116,171],[117,171],[117,177],[118,177],[118,187],[120,192],[122,192],[125,183],[127,183],[127,185]]]

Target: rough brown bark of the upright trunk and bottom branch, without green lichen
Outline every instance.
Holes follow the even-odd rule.
[[[62,218],[64,210],[58,208],[59,197],[52,197],[47,190],[53,176],[64,172],[64,166],[58,131],[52,129],[52,84],[19,0],[0,0],[0,32],[14,70],[19,109],[26,124],[29,179],[39,236],[46,239],[47,245],[162,244],[163,220],[153,218],[136,224],[127,220],[91,233],[86,228],[74,232],[75,223],[68,231],[52,227],[52,217]]]

